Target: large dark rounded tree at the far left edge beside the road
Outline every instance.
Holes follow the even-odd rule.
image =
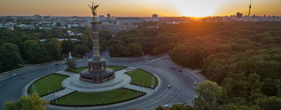
[[[12,43],[3,44],[0,47],[0,62],[3,63],[4,71],[16,69],[18,64],[22,64],[23,60],[17,45]]]

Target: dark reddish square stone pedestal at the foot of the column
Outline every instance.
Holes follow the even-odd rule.
[[[105,72],[93,73],[88,72],[88,70],[81,71],[80,80],[90,82],[90,83],[103,83],[105,81],[115,78],[115,71],[112,69],[106,69]]]

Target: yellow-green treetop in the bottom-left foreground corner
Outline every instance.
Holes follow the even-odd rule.
[[[49,103],[46,99],[41,99],[39,94],[31,94],[21,96],[15,103],[7,101],[5,110],[46,110]]]

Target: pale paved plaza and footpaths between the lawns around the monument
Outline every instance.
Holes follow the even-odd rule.
[[[101,91],[108,91],[108,90],[113,90],[113,89],[117,89],[117,88],[121,88],[121,87],[133,89],[133,90],[138,90],[140,92],[142,91],[142,92],[147,93],[146,95],[137,98],[137,99],[144,99],[144,98],[152,95],[155,91],[157,91],[160,88],[161,85],[158,85],[158,87],[156,87],[155,90],[154,90],[154,89],[150,89],[150,88],[144,88],[144,87],[141,87],[141,86],[129,84],[130,81],[131,81],[131,78],[124,73],[127,72],[127,71],[131,71],[133,69],[136,69],[136,68],[128,67],[128,68],[123,69],[123,70],[115,71],[115,76],[116,76],[116,78],[114,78],[115,80],[112,79],[112,80],[109,80],[109,81],[106,81],[106,82],[100,83],[100,84],[92,84],[92,83],[89,83],[89,82],[81,81],[81,80],[79,80],[80,75],[77,74],[77,73],[72,73],[72,72],[67,72],[67,71],[58,71],[56,73],[70,76],[62,82],[62,85],[64,87],[66,87],[66,89],[57,91],[56,93],[53,91],[53,94],[44,96],[44,97],[42,97],[42,99],[47,99],[48,101],[52,101],[53,99],[55,100],[56,97],[57,98],[62,97],[66,94],[74,92],[75,90],[81,91],[81,92],[101,92]],[[39,78],[37,78],[37,79],[39,79]],[[35,80],[37,80],[37,79],[35,79]],[[25,85],[25,87],[22,91],[23,95],[25,95],[25,96],[28,95],[27,89],[30,85],[32,85],[32,83],[35,80],[32,80],[30,82],[30,84]],[[71,83],[74,83],[75,86],[73,86],[73,84],[71,84]],[[77,84],[79,84],[78,86],[81,86],[81,88],[78,88]],[[93,88],[95,86],[97,86],[97,88]],[[90,89],[86,89],[86,88],[90,88]],[[111,106],[119,106],[119,105],[124,105],[124,104],[132,103],[132,102],[136,102],[136,100],[130,100],[130,101],[123,102],[123,103],[111,104]],[[100,109],[100,108],[107,108],[107,107],[108,106],[105,105],[105,106],[96,106],[96,107],[81,107],[81,108],[78,107],[78,109],[83,109],[83,110],[84,109]],[[48,108],[68,109],[68,110],[69,109],[76,109],[76,107],[62,107],[62,106],[54,106],[54,105],[48,105]]]

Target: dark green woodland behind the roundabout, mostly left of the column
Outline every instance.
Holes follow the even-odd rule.
[[[0,62],[3,71],[17,68],[18,64],[31,63],[40,64],[64,60],[64,54],[71,52],[72,57],[82,58],[92,49],[91,28],[52,28],[52,29],[22,29],[14,27],[15,30],[0,28]],[[64,35],[67,30],[72,32],[83,32],[82,35]],[[112,33],[99,30],[100,50],[106,48],[107,41],[111,39]],[[45,39],[42,42],[40,39]],[[60,41],[58,39],[68,39]],[[77,43],[70,39],[80,39]]]

